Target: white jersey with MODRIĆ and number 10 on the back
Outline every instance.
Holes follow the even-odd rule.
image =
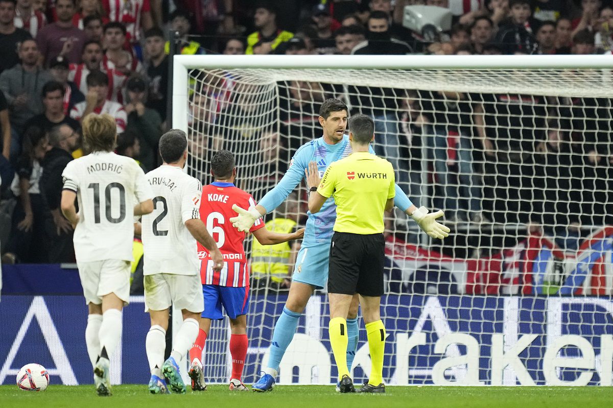
[[[130,157],[94,152],[64,168],[64,189],[77,193],[77,262],[132,261],[134,206],[153,198],[145,173]]]

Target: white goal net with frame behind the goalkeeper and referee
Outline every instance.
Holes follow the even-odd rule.
[[[178,56],[173,124],[189,134],[188,172],[210,183],[211,155],[229,149],[257,201],[321,137],[324,100],[375,119],[376,153],[452,229],[430,240],[401,211],[386,216],[386,383],[611,385],[611,58]],[[303,225],[306,202],[303,181],[266,221]],[[245,383],[287,298],[273,276],[251,280]],[[279,383],[336,382],[328,316],[318,291]],[[355,383],[370,374],[359,324]],[[229,380],[229,336],[227,320],[213,323],[208,382]]]

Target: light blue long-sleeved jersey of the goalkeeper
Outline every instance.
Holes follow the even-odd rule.
[[[370,153],[375,154],[372,146]],[[329,145],[324,142],[324,138],[316,138],[311,142],[305,143],[294,154],[292,161],[289,162],[287,172],[281,178],[281,181],[270,191],[264,195],[259,205],[266,209],[267,213],[275,210],[281,203],[285,201],[287,196],[294,191],[295,187],[306,179],[305,169],[308,168],[309,162],[316,162],[321,177],[330,163],[343,159],[351,154],[351,143],[349,136],[343,136],[343,140],[336,145]],[[406,197],[406,194],[396,184],[396,197],[394,205],[402,211],[406,211],[413,203]],[[330,197],[326,200],[316,214],[307,212],[308,221],[305,235],[302,241],[303,246],[313,246],[316,243],[330,243],[334,231],[334,222],[337,219],[337,205],[334,198]]]

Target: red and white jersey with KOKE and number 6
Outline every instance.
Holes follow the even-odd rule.
[[[242,208],[255,206],[256,202],[251,194],[235,187],[232,183],[215,183],[202,187],[202,200],[200,200],[200,218],[207,225],[208,233],[213,236],[219,251],[224,257],[224,266],[220,272],[213,271],[213,261],[207,249],[198,244],[198,255],[202,261],[200,278],[203,285],[219,285],[231,287],[245,287],[249,285],[249,271],[245,259],[245,233],[232,227],[230,217],[237,214],[232,205]],[[249,232],[264,227],[259,218]]]

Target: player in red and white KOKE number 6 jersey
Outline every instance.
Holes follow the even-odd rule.
[[[213,270],[213,261],[205,247],[198,245],[198,254],[202,260],[200,278],[204,292],[204,312],[200,319],[198,338],[189,353],[192,360],[189,377],[192,390],[206,389],[202,372],[202,349],[211,328],[211,320],[223,319],[221,306],[230,319],[230,354],[232,355],[232,376],[230,390],[247,391],[241,381],[245,357],[247,354],[247,319],[249,301],[249,271],[245,259],[243,241],[245,233],[239,232],[229,222],[236,212],[234,206],[255,206],[251,194],[234,186],[236,167],[234,155],[227,150],[215,153],[211,159],[211,175],[215,181],[202,187],[200,200],[200,218],[207,225],[217,247],[224,257],[221,271]],[[249,230],[262,245],[274,245],[302,238],[304,229],[294,233],[276,233],[264,227],[262,219],[257,219]]]

